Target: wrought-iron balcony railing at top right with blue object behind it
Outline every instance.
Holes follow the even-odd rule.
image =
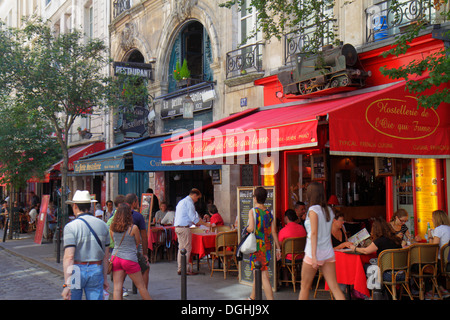
[[[381,1],[367,8],[366,42],[387,39],[402,33],[411,24],[421,21],[425,24],[441,23],[443,19],[433,6],[434,0],[402,1],[395,8],[391,1]]]

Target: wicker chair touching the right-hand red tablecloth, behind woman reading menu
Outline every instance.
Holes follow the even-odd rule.
[[[397,300],[397,286],[400,286],[400,297],[404,288],[413,300],[409,288],[408,248],[383,250],[378,256],[378,267],[381,285],[386,287],[393,300]]]

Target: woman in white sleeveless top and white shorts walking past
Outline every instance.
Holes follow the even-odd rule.
[[[326,202],[323,185],[319,182],[310,183],[306,197],[310,207],[305,220],[308,236],[302,265],[299,299],[308,300],[314,276],[320,267],[336,300],[345,300],[336,280],[334,250],[331,243],[331,225],[334,214]]]

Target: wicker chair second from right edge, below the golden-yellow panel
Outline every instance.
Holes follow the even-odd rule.
[[[410,276],[419,287],[419,299],[425,298],[425,279],[431,280],[433,289],[432,296],[437,291],[439,300],[442,299],[437,283],[438,252],[439,244],[436,243],[414,243],[409,247]]]

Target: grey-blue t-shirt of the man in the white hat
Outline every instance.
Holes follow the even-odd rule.
[[[102,247],[98,245],[89,227],[80,220],[84,219],[95,231]],[[64,227],[64,248],[75,247],[75,261],[103,260],[105,248],[109,246],[109,229],[106,223],[89,213],[80,214],[77,219]]]

